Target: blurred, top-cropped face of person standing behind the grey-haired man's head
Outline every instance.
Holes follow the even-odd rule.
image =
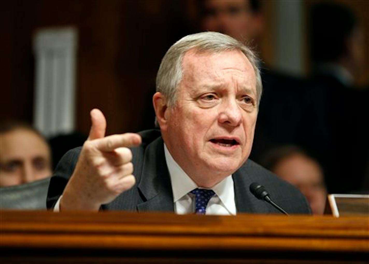
[[[249,41],[256,36],[254,14],[248,0],[206,0],[202,30],[221,32],[239,41]]]

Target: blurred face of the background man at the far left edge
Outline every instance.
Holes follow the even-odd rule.
[[[50,152],[34,132],[16,129],[0,134],[0,186],[13,186],[51,176]]]

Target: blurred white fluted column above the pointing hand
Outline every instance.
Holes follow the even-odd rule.
[[[34,126],[44,136],[75,130],[77,31],[46,28],[34,35]]]

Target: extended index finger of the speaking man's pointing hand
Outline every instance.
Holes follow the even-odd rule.
[[[94,140],[96,148],[100,151],[113,151],[120,147],[134,147],[141,144],[141,136],[135,133],[125,133],[107,136]]]

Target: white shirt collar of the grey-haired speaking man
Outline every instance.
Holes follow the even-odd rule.
[[[173,202],[177,202],[184,195],[187,195],[193,189],[198,188],[198,186],[173,159],[165,144],[164,153],[170,175],[170,181],[172,182]],[[232,175],[227,176],[221,182],[214,185],[211,189],[219,197],[225,208],[227,208],[232,215],[235,215],[236,206]]]

